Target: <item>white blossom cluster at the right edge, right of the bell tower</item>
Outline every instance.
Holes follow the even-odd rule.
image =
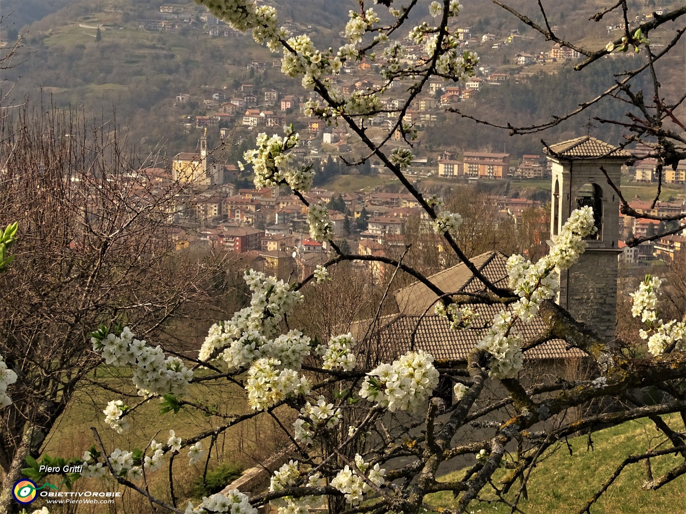
[[[670,345],[678,351],[686,350],[686,323],[674,319],[665,323],[657,317],[657,292],[661,284],[659,278],[646,275],[639,289],[630,293],[631,314],[641,316],[641,321],[648,326],[648,330],[640,330],[639,334],[642,339],[648,339],[648,351],[655,356],[663,354]]]

